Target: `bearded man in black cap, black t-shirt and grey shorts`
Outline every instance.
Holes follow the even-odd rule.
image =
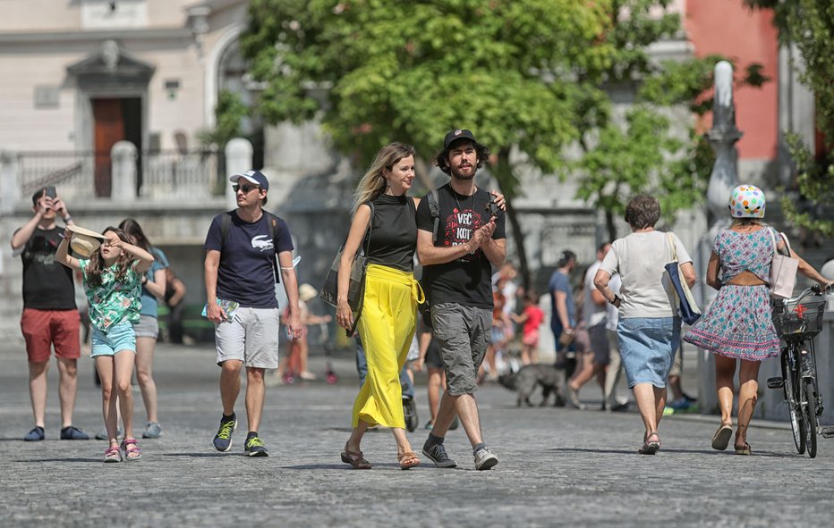
[[[475,468],[498,464],[481,437],[474,393],[476,378],[492,327],[492,265],[504,264],[504,213],[489,207],[492,196],[475,186],[475,174],[489,150],[470,130],[452,130],[443,140],[438,167],[451,181],[437,189],[438,211],[430,197],[417,207],[417,255],[423,265],[422,287],[430,306],[434,337],[447,375],[447,390],[423,454],[438,467],[455,467],[443,440],[455,411],[472,443]],[[438,220],[437,227],[435,221]],[[436,239],[436,240],[435,240]]]

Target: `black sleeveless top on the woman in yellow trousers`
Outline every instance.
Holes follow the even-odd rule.
[[[368,263],[413,272],[417,249],[417,211],[414,199],[405,195],[380,195],[373,200],[373,230]]]

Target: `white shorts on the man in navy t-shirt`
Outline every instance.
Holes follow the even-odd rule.
[[[255,368],[278,368],[277,308],[238,308],[231,321],[215,323],[217,365],[229,359]]]

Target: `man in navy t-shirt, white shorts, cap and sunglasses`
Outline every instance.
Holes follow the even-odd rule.
[[[290,339],[302,335],[293,241],[286,223],[263,210],[269,182],[260,171],[234,174],[237,209],[218,214],[206,236],[206,316],[215,323],[217,365],[223,416],[214,439],[218,451],[232,448],[237,428],[234,402],[246,366],[246,416],[249,433],[243,446],[250,457],[267,457],[258,437],[265,394],[264,370],[278,366],[278,304],[275,258],[289,300]]]

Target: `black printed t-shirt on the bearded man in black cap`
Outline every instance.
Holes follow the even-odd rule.
[[[489,222],[485,207],[491,200],[492,196],[482,189],[477,189],[471,197],[455,193],[449,184],[438,189],[440,223],[435,246],[459,246],[472,239],[472,233]],[[506,238],[504,222],[504,213],[500,212],[492,239]],[[434,230],[426,197],[417,207],[417,229]],[[457,303],[492,308],[492,264],[480,247],[452,262],[423,266],[421,284],[432,305]]]

